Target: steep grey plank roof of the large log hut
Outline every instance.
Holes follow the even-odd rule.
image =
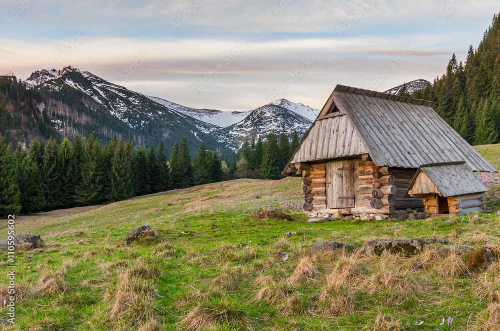
[[[418,168],[420,164],[464,160],[473,171],[498,172],[431,106],[430,101],[337,85],[314,124],[331,116],[328,112],[336,107],[339,113],[349,117],[378,166]],[[317,155],[315,151],[297,155],[301,148],[308,148],[303,143],[310,132],[311,129],[283,169],[283,174],[292,161],[318,160],[311,158]],[[339,135],[339,130],[330,129],[325,132],[324,139],[337,139]]]

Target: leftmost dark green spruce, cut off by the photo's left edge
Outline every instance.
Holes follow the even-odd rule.
[[[12,145],[5,147],[0,134],[0,217],[15,214],[21,209]]]

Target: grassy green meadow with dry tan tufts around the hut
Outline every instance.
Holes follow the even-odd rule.
[[[500,145],[477,148],[495,166]],[[5,330],[466,330],[500,329],[500,183],[485,214],[309,224],[300,178],[236,179],[106,205],[16,216],[44,248],[18,251],[16,323]],[[263,220],[262,209],[293,220]],[[122,238],[149,224],[157,238]],[[6,221],[0,224],[6,236]],[[288,237],[286,232],[295,232]],[[376,238],[446,239],[489,247],[469,267],[432,250],[413,257],[360,249],[311,256],[317,240],[362,248]],[[273,253],[288,252],[282,261]],[[7,295],[6,252],[0,268]],[[439,325],[453,317],[453,324]],[[420,323],[423,321],[422,323]],[[415,323],[416,322],[416,323]]]

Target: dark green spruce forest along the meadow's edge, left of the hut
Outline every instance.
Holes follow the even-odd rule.
[[[297,145],[295,131],[291,148]],[[232,178],[276,179],[290,155],[284,128],[279,142],[272,133],[265,141],[245,140],[230,168],[203,141],[191,160],[185,135],[173,145],[169,160],[163,141],[157,149],[151,143],[136,150],[130,138],[114,135],[101,146],[91,134],[85,140],[76,134],[72,142],[64,138],[60,144],[53,137],[46,143],[33,139],[25,149],[20,143],[6,145],[0,135],[0,214],[119,201]]]

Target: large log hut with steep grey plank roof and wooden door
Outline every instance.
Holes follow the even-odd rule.
[[[444,187],[455,174],[446,172],[446,163],[462,162],[455,168],[470,180],[471,171],[497,172],[431,106],[430,101],[337,85],[281,172],[302,176],[304,212],[388,215],[395,209],[423,209],[428,202],[428,214],[437,215],[428,194],[438,200],[448,194]],[[409,192],[431,163],[441,164],[440,180],[431,180],[436,190]],[[459,206],[462,195],[487,190],[477,181],[475,192],[467,185],[453,184],[446,196],[454,197],[448,213],[468,210],[471,202]]]

